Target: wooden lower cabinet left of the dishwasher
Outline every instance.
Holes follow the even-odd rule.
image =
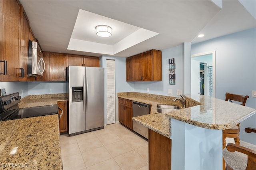
[[[119,122],[132,129],[132,101],[118,98]]]

